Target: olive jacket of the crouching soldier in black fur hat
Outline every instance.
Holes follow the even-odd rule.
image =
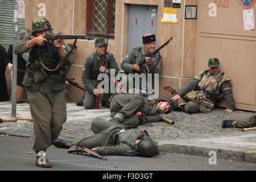
[[[135,47],[131,50],[131,52],[125,57],[125,59],[122,61],[121,68],[123,71],[125,71],[126,74],[128,73],[134,73],[133,71],[133,65],[140,63],[143,61],[148,55],[144,51],[144,48],[142,47]],[[159,59],[159,53],[156,54],[155,57],[152,57],[152,63],[147,66],[150,69],[150,73],[160,73],[162,70],[162,64],[163,64],[163,59],[162,56],[160,56],[160,60],[158,65],[156,65],[158,59]],[[155,67],[156,65],[156,67]],[[152,70],[155,67],[154,70]],[[144,73],[143,72],[143,67],[139,70],[139,74]]]

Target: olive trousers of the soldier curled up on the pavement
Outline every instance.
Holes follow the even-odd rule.
[[[144,98],[139,94],[118,94],[110,102],[110,117],[117,113],[123,114],[123,125],[139,125],[139,118],[135,115],[145,104]]]

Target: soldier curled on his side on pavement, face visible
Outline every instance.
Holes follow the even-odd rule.
[[[127,126],[159,122],[162,114],[170,113],[173,107],[174,101],[170,98],[157,101],[149,100],[148,94],[118,94],[110,102],[110,122]]]

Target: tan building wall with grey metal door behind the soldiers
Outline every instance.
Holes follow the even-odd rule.
[[[179,89],[195,74],[208,69],[210,57],[218,57],[221,70],[232,78],[236,109],[256,111],[256,32],[254,28],[246,30],[250,29],[250,22],[244,22],[244,14],[252,17],[249,10],[253,12],[254,3],[255,0],[26,0],[25,25],[31,28],[33,19],[46,16],[56,33],[109,35],[108,51],[114,54],[119,68],[142,35],[154,32],[157,46],[172,37],[160,51],[163,67],[159,98],[172,97],[164,86]],[[94,40],[77,40],[77,46],[68,77],[82,85],[84,61],[95,51]],[[74,101],[84,95],[71,85],[67,90]],[[225,106],[225,102],[218,105]]]

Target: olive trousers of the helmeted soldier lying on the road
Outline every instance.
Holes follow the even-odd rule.
[[[73,142],[73,145],[86,148],[103,147],[101,133],[109,129],[109,127],[115,126],[112,122],[106,122],[102,118],[95,118],[92,121],[92,131],[95,135],[90,137],[84,137],[77,139]]]

